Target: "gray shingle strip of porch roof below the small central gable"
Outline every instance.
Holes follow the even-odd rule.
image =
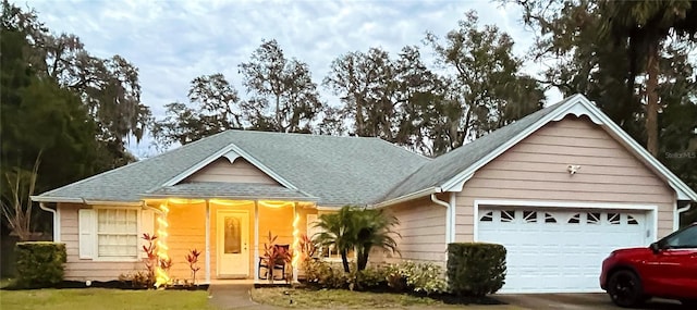
[[[279,185],[258,183],[196,182],[160,187],[144,197],[297,199],[316,200],[307,194]]]

